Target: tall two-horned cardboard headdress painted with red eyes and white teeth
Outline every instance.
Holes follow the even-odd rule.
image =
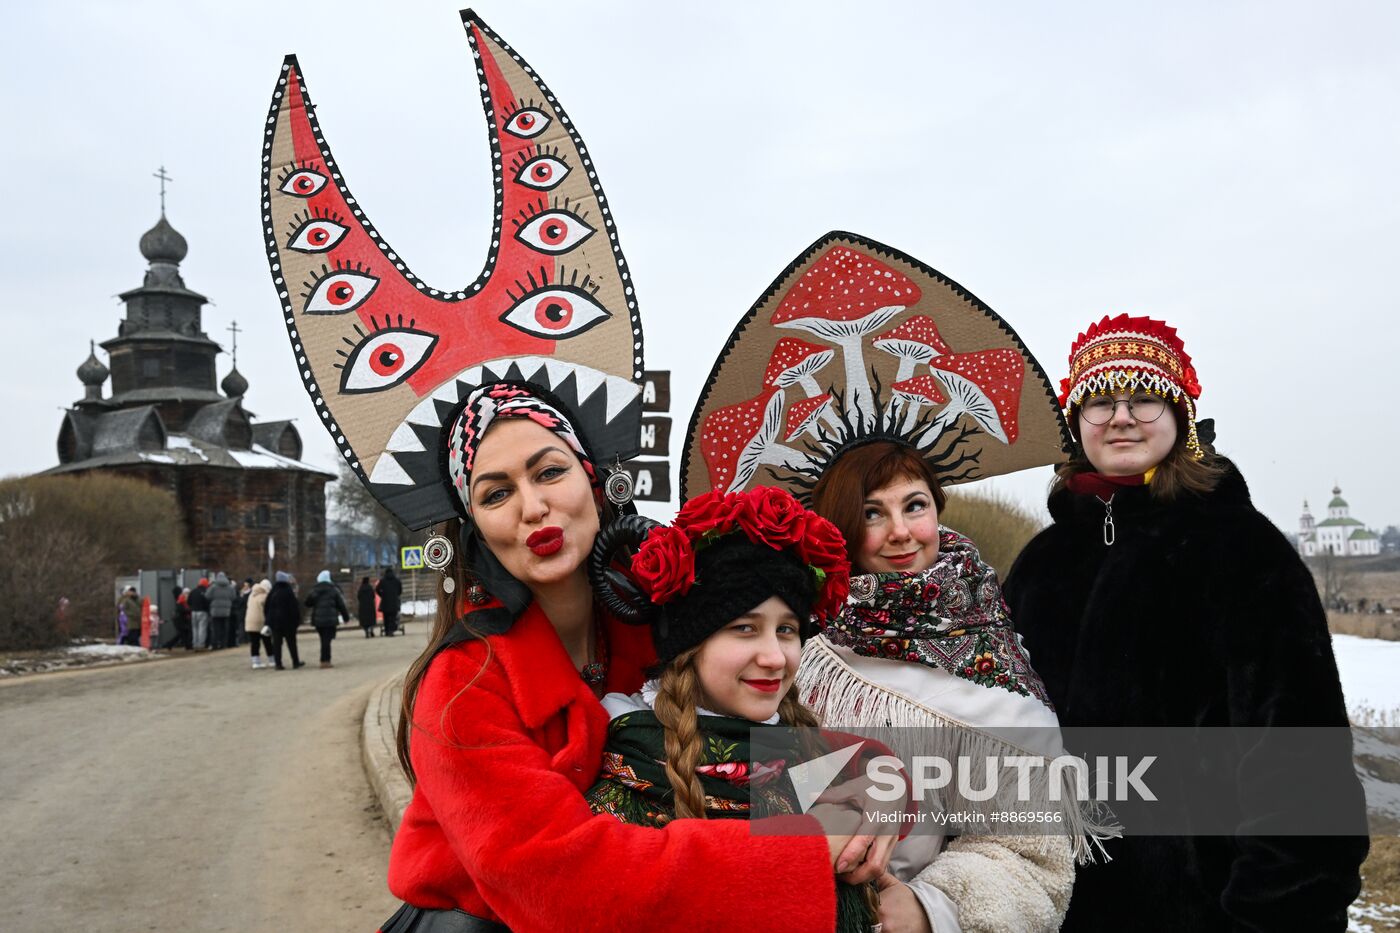
[[[599,464],[634,455],[641,426],[641,321],[588,148],[510,45],[470,10],[462,24],[496,178],[491,247],[470,284],[428,287],[384,240],[294,56],[263,140],[263,237],[297,370],[346,464],[413,530],[461,514],[442,426],[483,384],[560,402]]]

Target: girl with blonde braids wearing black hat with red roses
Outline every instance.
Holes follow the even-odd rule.
[[[795,728],[818,723],[794,678],[808,619],[846,600],[840,532],[781,489],[711,493],[673,525],[633,517],[599,535],[594,566],[641,535],[630,576],[650,602],[658,664],[641,691],[603,698],[612,721],[589,806],[650,827],[799,813],[784,773],[830,748]],[[785,754],[750,766],[756,748]],[[871,884],[839,884],[836,929],[869,930],[874,905]],[[809,929],[823,927],[812,918]]]

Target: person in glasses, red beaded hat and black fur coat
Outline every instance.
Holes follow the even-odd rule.
[[[1061,721],[1336,727],[1309,730],[1306,741],[1288,728],[1239,733],[1245,752],[1208,772],[1219,775],[1211,799],[1233,801],[1235,835],[1145,836],[1126,825],[1106,846],[1112,860],[1081,870],[1064,929],[1345,929],[1365,836],[1288,835],[1299,808],[1323,801],[1365,831],[1312,576],[1211,448],[1211,424],[1196,420],[1201,385],[1175,328],[1105,317],[1071,346],[1061,391],[1079,448],[1057,469],[1053,524],[1007,579]],[[1308,799],[1298,786],[1305,765],[1320,782]],[[1168,786],[1193,778],[1169,758],[1154,768]],[[1161,821],[1190,827],[1191,817],[1173,810]],[[1320,832],[1350,832],[1344,821]]]

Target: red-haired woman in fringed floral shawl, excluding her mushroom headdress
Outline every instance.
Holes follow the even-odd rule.
[[[804,649],[799,695],[834,727],[903,728],[918,751],[948,761],[1053,756],[1058,723],[995,570],[972,541],[938,523],[944,504],[928,461],[895,440],[855,445],[826,468],[812,506],[844,534],[854,576],[844,612]],[[1007,730],[1000,745],[998,728]],[[1030,741],[1040,745],[1014,745]],[[1037,787],[1036,807],[1061,814],[1060,835],[944,836],[921,828],[906,838],[882,881],[888,929],[1060,929],[1074,850],[1088,845],[1071,836],[1089,828],[1072,804],[1053,804],[1046,792]]]

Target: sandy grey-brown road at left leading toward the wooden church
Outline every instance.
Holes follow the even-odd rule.
[[[6,930],[353,930],[395,901],[360,762],[374,685],[424,626],[342,632],[336,667],[246,649],[0,684]]]

